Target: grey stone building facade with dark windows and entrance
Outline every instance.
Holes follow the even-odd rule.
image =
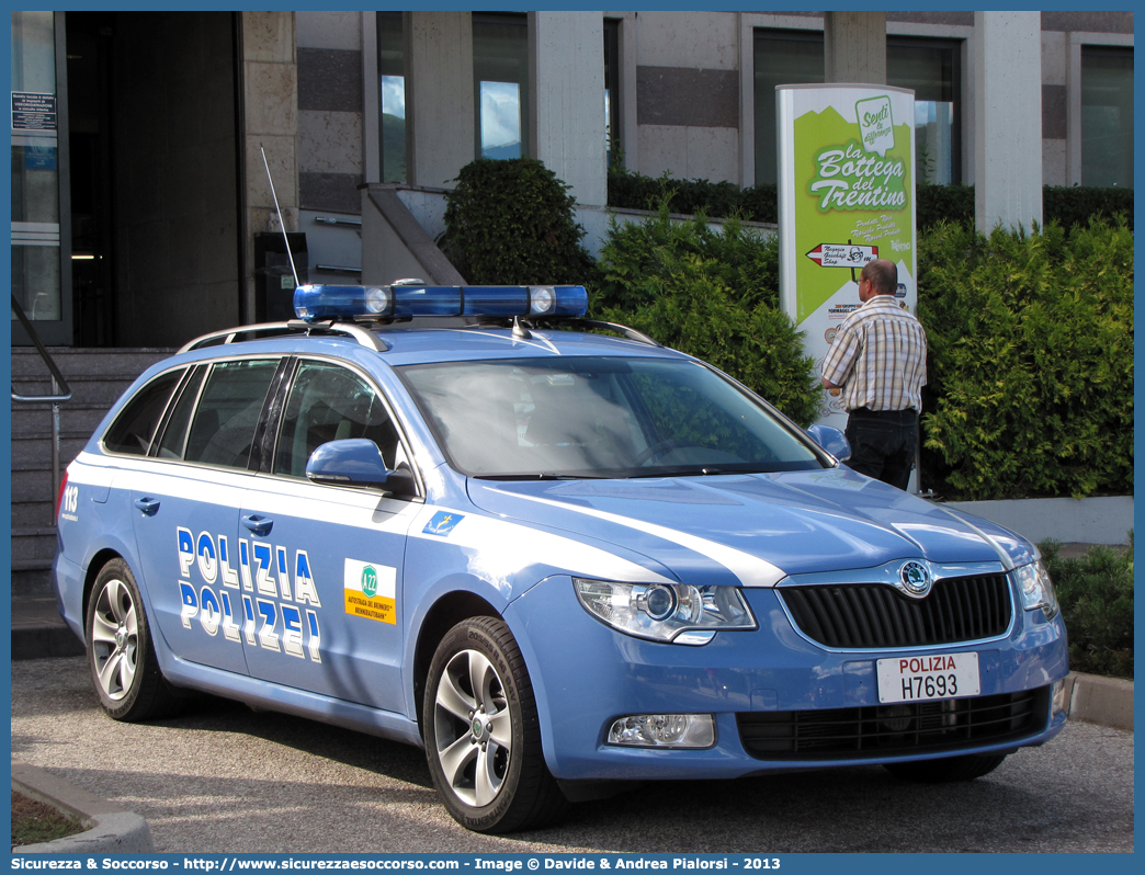
[[[311,281],[388,282],[479,156],[540,158],[586,227],[610,161],[774,182],[774,87],[848,52],[915,90],[931,182],[1028,218],[1134,184],[1132,13],[876,15],[13,13],[14,294],[48,344],[174,346],[284,306],[275,196]]]

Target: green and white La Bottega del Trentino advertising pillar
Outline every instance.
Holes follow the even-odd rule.
[[[886,85],[781,85],[779,131],[780,305],[804,332],[820,372],[859,302],[859,271],[885,258],[899,268],[899,304],[917,313],[914,92]],[[838,389],[819,421],[846,426]]]

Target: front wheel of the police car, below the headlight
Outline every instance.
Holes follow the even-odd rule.
[[[445,633],[421,714],[429,773],[461,826],[512,833],[564,814],[569,803],[545,765],[529,672],[503,621],[472,617]]]

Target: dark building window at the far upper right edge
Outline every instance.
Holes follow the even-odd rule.
[[[1081,184],[1134,187],[1134,50],[1081,49]]]

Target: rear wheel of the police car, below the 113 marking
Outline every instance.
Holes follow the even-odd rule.
[[[123,559],[100,569],[85,629],[87,664],[110,717],[134,723],[174,709],[176,697],[159,670],[139,585]]]

